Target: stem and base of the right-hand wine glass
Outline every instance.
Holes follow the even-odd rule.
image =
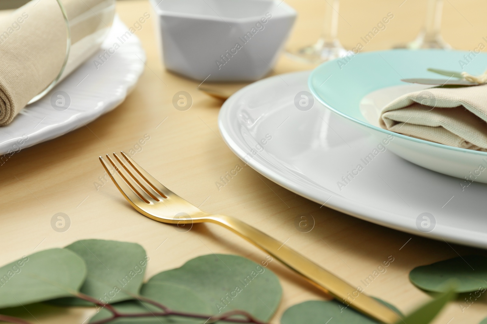
[[[396,48],[409,49],[451,49],[441,37],[441,17],[443,16],[443,0],[428,0],[426,3],[426,21],[423,29],[415,40]]]

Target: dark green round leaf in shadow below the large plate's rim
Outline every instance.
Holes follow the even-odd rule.
[[[428,291],[445,292],[451,282],[455,292],[487,288],[487,257],[459,256],[427,266],[414,268],[409,273],[411,282]]]

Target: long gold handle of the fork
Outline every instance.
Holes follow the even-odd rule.
[[[255,227],[225,215],[210,215],[208,221],[222,225],[247,239],[302,275],[319,289],[375,320],[381,323],[394,324],[400,319],[391,308],[365,295],[336,275],[329,273],[318,264]]]

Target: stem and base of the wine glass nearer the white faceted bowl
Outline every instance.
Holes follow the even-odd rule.
[[[305,63],[318,64],[348,54],[349,51],[343,48],[337,38],[339,6],[340,0],[327,1],[321,36],[318,41],[314,45],[306,46],[298,51],[288,51],[292,58]]]

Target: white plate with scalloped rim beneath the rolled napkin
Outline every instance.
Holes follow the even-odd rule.
[[[116,50],[115,43],[120,45]],[[105,50],[113,54],[105,54],[102,61],[98,55]],[[115,16],[100,51],[42,99],[22,109],[12,123],[0,127],[0,165],[14,152],[71,132],[118,106],[137,83],[145,60],[137,36]]]

